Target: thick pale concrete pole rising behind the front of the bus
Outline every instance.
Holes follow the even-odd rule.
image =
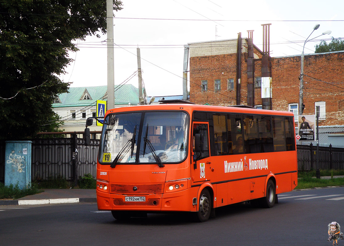
[[[112,0],[106,0],[107,28],[107,105],[115,107],[115,74],[114,74],[114,7]]]

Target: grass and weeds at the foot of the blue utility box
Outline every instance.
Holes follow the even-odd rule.
[[[29,186],[28,189],[20,189],[18,183],[16,185],[5,186],[3,183],[0,183],[0,199],[18,199],[21,197],[34,195],[42,192],[42,190],[37,189],[35,185]]]

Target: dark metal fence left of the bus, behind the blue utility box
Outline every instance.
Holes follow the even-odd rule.
[[[31,139],[32,180],[50,177],[63,177],[68,181],[91,174],[96,177],[99,139],[91,139],[90,145],[84,145],[84,139],[50,138]],[[5,142],[0,142],[0,181],[4,183]]]

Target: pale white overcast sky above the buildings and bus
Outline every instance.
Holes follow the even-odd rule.
[[[104,0],[105,1],[105,0]],[[344,37],[344,1],[320,0],[122,0],[114,18],[115,85],[138,87],[136,48],[140,48],[143,85],[148,96],[182,95],[184,45],[247,37],[262,50],[263,28],[270,25],[270,56],[301,55],[304,41],[313,54],[321,39]],[[107,85],[107,35],[76,40],[79,51],[60,78],[71,87]],[[327,43],[329,43],[327,41]],[[189,75],[188,75],[189,76]],[[129,78],[129,79],[128,79]],[[189,79],[189,77],[188,77]],[[188,83],[189,87],[189,83]]]

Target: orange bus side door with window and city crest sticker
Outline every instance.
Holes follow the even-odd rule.
[[[209,167],[209,124],[208,122],[193,122],[192,128],[192,181],[196,184],[210,179]]]

